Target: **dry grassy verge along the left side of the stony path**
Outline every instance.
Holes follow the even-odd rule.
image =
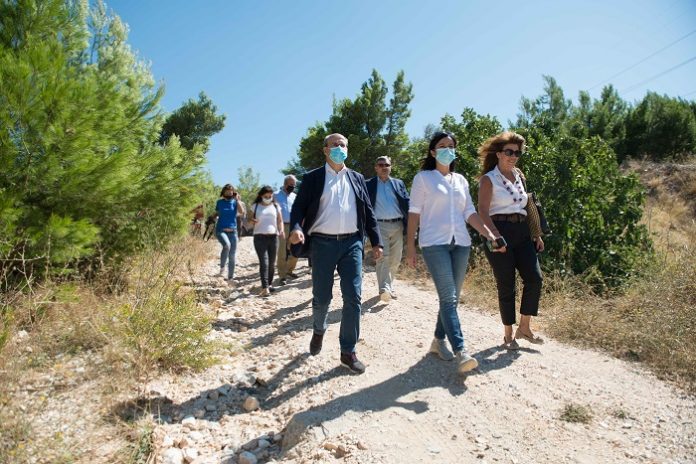
[[[95,445],[113,449],[108,462],[146,462],[152,427],[104,414],[153,373],[213,359],[210,316],[186,286],[206,253],[200,240],[186,240],[93,282],[33,283],[0,295],[12,316],[0,346],[0,463],[90,462]],[[75,375],[75,365],[84,373]],[[42,416],[56,395],[90,421],[88,433],[49,429]]]

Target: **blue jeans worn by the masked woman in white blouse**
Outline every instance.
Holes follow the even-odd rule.
[[[470,252],[471,247],[454,244],[423,248],[423,259],[433,276],[437,296],[440,299],[435,338],[443,340],[446,335],[455,352],[464,350],[464,335],[459,323],[457,305],[469,264]]]

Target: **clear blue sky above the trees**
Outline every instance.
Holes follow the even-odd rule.
[[[695,0],[112,0],[129,42],[165,84],[167,111],[208,94],[227,115],[212,138],[216,183],[251,166],[280,184],[307,128],[331,102],[354,98],[373,68],[391,84],[399,70],[415,98],[406,127],[420,136],[445,113],[470,106],[514,119],[542,74],[566,97],[599,95],[611,76],[696,30]],[[627,100],[646,90],[696,98],[696,33],[616,77]],[[626,91],[629,90],[629,91]],[[365,173],[371,175],[372,173]]]

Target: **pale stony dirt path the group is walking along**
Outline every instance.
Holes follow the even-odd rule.
[[[229,344],[229,356],[148,386],[156,462],[696,462],[696,400],[640,365],[553,340],[501,350],[498,318],[467,307],[464,295],[460,316],[479,368],[460,376],[427,354],[431,285],[399,282],[398,299],[384,304],[366,266],[357,351],[367,372],[353,375],[339,363],[338,283],[313,357],[306,261],[298,279],[261,298],[250,239],[237,259],[237,288],[212,277],[212,258],[197,282],[218,310],[211,337]],[[569,422],[564,411],[589,416]]]

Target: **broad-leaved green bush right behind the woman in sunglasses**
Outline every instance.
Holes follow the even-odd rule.
[[[616,287],[650,256],[640,224],[644,190],[624,174],[599,137],[549,139],[521,131],[528,154],[520,167],[540,197],[553,234],[545,237],[546,267],[583,274],[596,288]]]

